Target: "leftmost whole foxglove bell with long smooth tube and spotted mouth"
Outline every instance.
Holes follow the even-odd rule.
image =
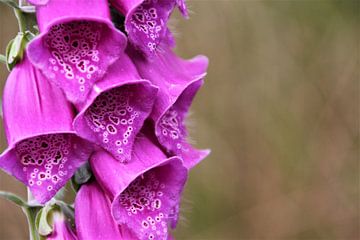
[[[8,148],[0,167],[40,203],[52,198],[86,162],[91,146],[72,129],[72,107],[28,59],[10,73],[3,94]]]

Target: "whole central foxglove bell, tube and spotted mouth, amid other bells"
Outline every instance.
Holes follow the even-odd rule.
[[[142,80],[127,55],[95,83],[74,121],[78,135],[95,142],[119,161],[131,158],[133,141],[149,116],[157,88]]]

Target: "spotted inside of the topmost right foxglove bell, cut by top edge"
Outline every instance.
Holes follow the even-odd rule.
[[[145,0],[130,17],[130,37],[135,44],[145,45],[148,51],[155,51],[166,32],[166,22],[174,1]]]

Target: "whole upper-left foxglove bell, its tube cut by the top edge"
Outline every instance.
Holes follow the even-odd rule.
[[[42,1],[40,1],[42,2]],[[28,45],[35,67],[73,103],[84,101],[126,46],[106,0],[48,0],[37,5],[41,34]]]

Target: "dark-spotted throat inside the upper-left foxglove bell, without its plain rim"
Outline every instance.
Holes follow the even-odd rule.
[[[86,95],[92,86],[94,75],[99,69],[99,42],[104,24],[90,21],[73,21],[51,27],[44,38],[49,49],[50,77],[67,81],[76,95]]]

